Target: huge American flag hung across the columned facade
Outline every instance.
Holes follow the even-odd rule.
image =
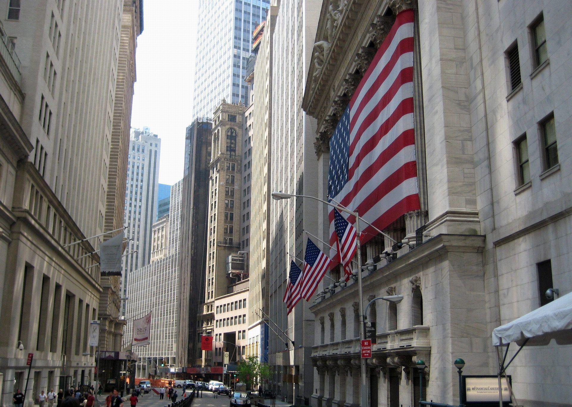
[[[413,117],[413,10],[396,16],[329,141],[328,196],[379,230],[418,210]],[[349,223],[355,222],[348,216]],[[330,246],[337,240],[329,213]],[[378,234],[360,224],[360,241]],[[332,259],[341,261],[332,250]]]

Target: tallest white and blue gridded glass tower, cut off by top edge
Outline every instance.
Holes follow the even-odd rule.
[[[194,74],[194,116],[212,117],[221,100],[247,104],[244,74],[252,31],[269,0],[200,0]]]

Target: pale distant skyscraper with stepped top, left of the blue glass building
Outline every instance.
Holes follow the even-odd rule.
[[[151,227],[157,219],[157,191],[161,139],[148,127],[133,129],[129,142],[127,188],[125,191],[126,237],[125,253],[137,252],[123,258],[121,290],[127,294],[129,273],[149,264],[151,257]],[[123,307],[125,313],[125,306]]]

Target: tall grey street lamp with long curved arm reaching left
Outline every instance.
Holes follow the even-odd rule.
[[[315,196],[309,196],[309,195],[293,195],[290,193],[284,193],[284,192],[272,192],[272,199],[276,199],[276,200],[280,200],[280,199],[290,199],[291,197],[300,197],[300,198],[309,198],[309,199],[314,199],[317,200],[321,203],[324,203],[328,206],[331,206],[332,208],[336,208],[339,211],[345,212],[346,214],[355,216],[355,224],[354,227],[356,228],[356,252],[358,254],[358,294],[359,294],[359,313],[360,313],[360,318],[362,319],[360,325],[359,325],[359,331],[360,331],[360,339],[366,339],[366,330],[364,327],[365,324],[365,315],[363,312],[363,289],[362,289],[362,250],[360,247],[360,241],[359,241],[359,236],[360,236],[360,228],[359,228],[359,221],[360,221],[360,217],[358,212],[353,212],[348,210],[348,208],[345,208],[341,205],[334,205],[328,201],[325,201],[323,199],[319,199]],[[362,407],[368,407],[370,405],[369,400],[368,400],[368,391],[367,391],[367,376],[366,376],[366,359],[360,359],[360,374],[362,376]]]

